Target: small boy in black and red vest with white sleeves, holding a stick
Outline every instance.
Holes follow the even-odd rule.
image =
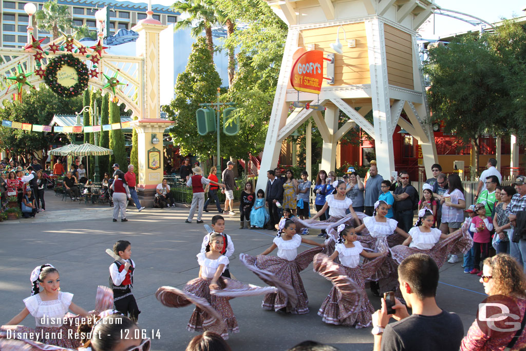
[[[137,321],[139,319],[139,307],[135,296],[131,292],[133,288],[133,272],[135,262],[131,259],[131,244],[127,240],[119,240],[113,245],[113,252],[126,264],[115,260],[109,266],[109,286],[113,290],[113,304],[116,310]]]

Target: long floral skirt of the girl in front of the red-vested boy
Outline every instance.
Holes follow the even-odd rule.
[[[190,280],[185,286],[185,292],[193,294],[195,296],[203,297],[208,300],[210,305],[217,310],[217,312],[223,317],[226,327],[222,330],[217,330],[217,320],[208,316],[199,307],[194,308],[186,329],[190,332],[209,330],[210,332],[221,335],[223,339],[228,339],[228,333],[239,333],[239,327],[237,325],[236,317],[232,306],[228,302],[229,297],[217,296],[210,294],[210,282],[211,278],[195,278]],[[222,278],[217,280],[219,288],[225,287],[225,282]]]

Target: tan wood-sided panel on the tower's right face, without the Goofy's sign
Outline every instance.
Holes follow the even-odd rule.
[[[389,84],[413,89],[413,49],[411,35],[388,24],[383,26],[386,41]]]

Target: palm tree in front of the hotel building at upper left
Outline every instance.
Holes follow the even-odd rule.
[[[58,38],[58,31],[66,32],[73,29],[73,21],[68,7],[59,5],[57,0],[50,0],[35,14],[37,27],[53,34],[53,40]]]

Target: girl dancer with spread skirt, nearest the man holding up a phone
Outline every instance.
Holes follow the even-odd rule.
[[[375,312],[375,309],[365,292],[365,282],[383,263],[387,252],[366,252],[357,240],[358,235],[351,226],[345,224],[338,226],[338,244],[335,252],[328,257],[328,260],[332,261],[336,257],[339,258],[340,275],[351,278],[356,283],[358,291],[354,294],[357,296],[349,301],[335,284],[318,311],[318,315],[322,317],[325,323],[348,325],[355,328],[365,328],[371,325],[371,314]],[[360,256],[372,260],[360,265]],[[329,265],[325,266],[325,269],[323,269],[324,265],[320,265],[325,258],[327,258],[326,255],[318,254],[314,259],[315,270],[321,275],[324,275],[323,270],[330,269]],[[358,298],[360,296],[362,298]]]

